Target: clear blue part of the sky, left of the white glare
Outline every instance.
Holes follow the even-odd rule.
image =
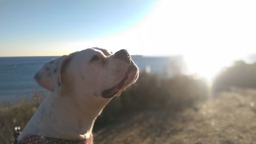
[[[0,1],[0,48],[16,49],[18,53],[24,49],[14,43],[81,41],[112,35],[143,19],[155,4],[154,0],[3,0]]]

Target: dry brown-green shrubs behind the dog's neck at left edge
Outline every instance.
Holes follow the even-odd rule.
[[[37,93],[31,99],[20,99],[17,102],[0,102],[0,143],[13,142],[13,130],[15,126],[24,128],[33,116],[45,94]]]

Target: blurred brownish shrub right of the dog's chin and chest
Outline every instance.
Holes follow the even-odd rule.
[[[159,78],[157,75],[141,72],[135,84],[114,98],[96,120],[98,126],[106,125],[131,112],[147,109],[167,108],[180,111],[198,100],[207,98],[208,89],[201,80],[178,75],[173,78]]]

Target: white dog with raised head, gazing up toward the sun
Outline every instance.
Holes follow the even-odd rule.
[[[53,142],[47,138],[84,142],[92,136],[94,121],[104,106],[137,80],[138,67],[124,49],[112,54],[89,48],[46,63],[34,78],[51,93],[17,140],[22,143],[27,137],[29,142],[33,135],[37,137],[30,140],[38,143]]]

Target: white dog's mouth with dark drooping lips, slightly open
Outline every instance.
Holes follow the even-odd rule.
[[[123,79],[113,88],[104,90],[101,94],[103,98],[112,98],[120,91],[122,91],[125,87],[130,84],[133,84],[135,80],[138,78],[137,66],[134,63],[129,66],[128,70],[125,73]]]

